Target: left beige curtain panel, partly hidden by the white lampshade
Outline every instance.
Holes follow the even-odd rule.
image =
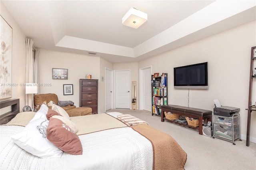
[[[26,38],[26,69],[25,83],[34,83],[34,56],[33,56],[34,41]],[[32,95],[25,94],[26,105],[32,107]]]

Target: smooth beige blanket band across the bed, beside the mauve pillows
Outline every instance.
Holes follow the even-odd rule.
[[[74,122],[78,128],[77,135],[111,128],[127,127],[127,125],[106,113],[70,117],[70,121]]]

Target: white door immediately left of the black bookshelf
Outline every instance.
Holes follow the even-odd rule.
[[[151,95],[151,67],[147,67],[140,71],[141,80],[141,107],[142,110],[152,111],[152,95]]]

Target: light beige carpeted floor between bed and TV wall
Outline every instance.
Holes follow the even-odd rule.
[[[226,140],[209,138],[198,134],[198,130],[161,122],[161,117],[147,111],[110,109],[107,112],[133,115],[170,134],[188,155],[186,170],[256,170],[256,144],[250,143],[248,147],[246,141],[235,141],[233,145]]]

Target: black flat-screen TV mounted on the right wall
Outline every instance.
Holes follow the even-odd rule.
[[[207,62],[174,67],[175,89],[208,89]]]

